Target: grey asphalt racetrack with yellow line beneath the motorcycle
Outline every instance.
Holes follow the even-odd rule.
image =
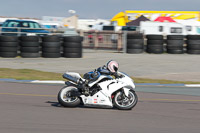
[[[195,95],[199,88],[185,95],[181,92],[192,88],[138,86],[136,107],[120,111],[63,108],[56,98],[62,86],[0,82],[0,132],[199,133],[200,97]],[[164,94],[170,89],[180,94]]]

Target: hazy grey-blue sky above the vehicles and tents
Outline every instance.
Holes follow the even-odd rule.
[[[200,0],[0,0],[0,16],[111,19],[125,10],[200,11]]]

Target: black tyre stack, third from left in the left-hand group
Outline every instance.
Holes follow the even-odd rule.
[[[42,37],[42,57],[45,58],[59,58],[61,42],[58,36]]]

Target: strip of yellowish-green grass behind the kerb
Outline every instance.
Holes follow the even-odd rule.
[[[17,80],[64,80],[61,73],[43,72],[32,69],[0,68],[0,79],[12,78]],[[161,83],[161,84],[200,84],[200,82],[172,81],[162,79],[146,79],[132,77],[135,83]]]

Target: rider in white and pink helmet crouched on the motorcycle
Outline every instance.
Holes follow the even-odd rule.
[[[110,60],[108,61],[106,66],[99,67],[97,70],[93,72],[84,74],[84,78],[86,79],[86,81],[79,82],[79,85],[81,86],[83,93],[86,96],[89,96],[89,87],[87,87],[87,85],[91,81],[92,82],[96,81],[99,78],[100,74],[111,75],[114,76],[115,78],[119,78],[120,76],[117,73],[118,68],[119,64],[116,61]]]

